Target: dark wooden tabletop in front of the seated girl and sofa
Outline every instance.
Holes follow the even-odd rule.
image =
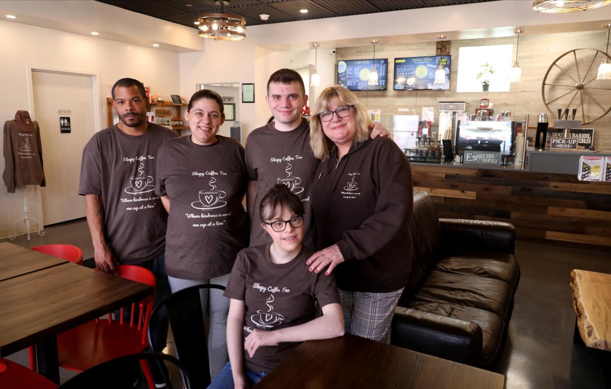
[[[503,388],[502,374],[354,335],[305,341],[263,388]]]

